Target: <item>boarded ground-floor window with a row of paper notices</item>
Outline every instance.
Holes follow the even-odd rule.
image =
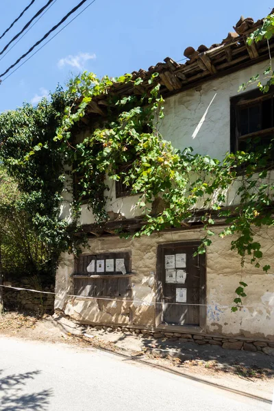
[[[131,264],[129,253],[103,253],[75,258],[75,295],[131,297]]]

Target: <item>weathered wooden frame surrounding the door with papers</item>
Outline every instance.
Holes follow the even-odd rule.
[[[199,303],[201,304],[199,310],[199,325],[166,325],[162,323],[162,264],[164,264],[164,250],[176,249],[183,247],[199,247],[200,241],[178,241],[178,242],[166,242],[158,245],[157,248],[157,263],[156,263],[156,286],[155,286],[155,327],[158,329],[173,330],[184,332],[205,332],[206,331],[206,253],[199,254],[199,266],[200,266],[200,296]]]

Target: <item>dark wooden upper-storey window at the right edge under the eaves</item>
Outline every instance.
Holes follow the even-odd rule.
[[[231,151],[264,149],[274,138],[274,90],[260,90],[231,99]],[[273,160],[273,151],[269,157]]]

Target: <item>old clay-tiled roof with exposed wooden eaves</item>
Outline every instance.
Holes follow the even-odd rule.
[[[271,14],[274,13],[274,9]],[[164,62],[159,62],[155,66],[150,66],[148,70],[140,69],[132,73],[133,78],[141,77],[142,84],[134,86],[132,82],[127,84],[116,83],[111,87],[110,92],[119,95],[129,95],[132,93],[142,94],[149,88],[148,80],[152,73],[159,73],[161,92],[164,97],[177,92],[194,87],[207,79],[219,77],[251,66],[269,57],[269,47],[274,48],[274,38],[247,45],[247,37],[251,32],[260,27],[263,20],[253,21],[253,18],[240,17],[234,26],[234,32],[229,32],[221,44],[214,44],[210,47],[200,45],[197,50],[187,47],[184,51],[186,62],[179,64],[173,59],[166,57]],[[97,103],[92,101],[89,112],[103,114],[103,99],[97,99]]]

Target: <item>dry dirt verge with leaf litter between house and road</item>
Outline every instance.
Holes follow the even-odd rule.
[[[145,338],[142,334],[86,327],[56,314],[38,318],[7,312],[0,316],[0,333],[28,340],[67,343],[81,349],[90,346],[105,349],[208,384],[225,386],[268,400],[272,398],[274,358],[262,353],[225,350],[219,346],[198,346],[193,343],[178,347],[166,338],[159,341]]]

